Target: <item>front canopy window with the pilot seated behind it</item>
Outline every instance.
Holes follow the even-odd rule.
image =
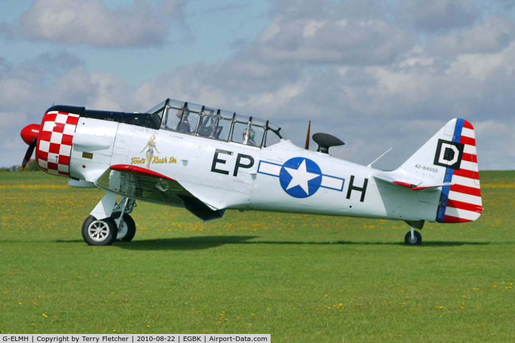
[[[178,131],[195,134],[202,106],[188,104],[187,102],[169,100],[161,128],[169,131]]]

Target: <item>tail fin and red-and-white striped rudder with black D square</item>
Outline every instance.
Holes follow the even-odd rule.
[[[407,182],[396,183],[413,190],[441,186],[437,222],[474,221],[483,212],[476,155],[472,124],[452,119],[397,169]]]

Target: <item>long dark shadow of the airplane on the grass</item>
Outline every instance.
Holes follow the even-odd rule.
[[[225,244],[282,244],[282,245],[401,245],[402,242],[352,242],[352,241],[330,241],[330,242],[309,242],[309,241],[250,241],[259,236],[200,236],[185,238],[167,238],[153,240],[134,240],[127,242],[115,242],[114,246],[128,250],[202,250],[214,248]],[[488,242],[449,242],[434,241],[424,242],[420,247],[434,246],[462,246],[462,245],[487,245]]]

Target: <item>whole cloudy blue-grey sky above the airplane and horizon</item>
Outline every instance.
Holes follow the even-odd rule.
[[[166,98],[270,120],[303,147],[400,166],[452,118],[480,170],[515,169],[511,0],[0,1],[0,167],[53,104],[144,112]],[[316,143],[311,141],[311,149]]]

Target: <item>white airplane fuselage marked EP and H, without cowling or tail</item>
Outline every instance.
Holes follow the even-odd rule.
[[[119,164],[148,166],[173,178],[212,209],[434,222],[440,197],[438,190],[412,191],[385,182],[374,176],[388,172],[305,150],[289,140],[256,148],[79,118],[70,176],[94,182],[109,166]]]

